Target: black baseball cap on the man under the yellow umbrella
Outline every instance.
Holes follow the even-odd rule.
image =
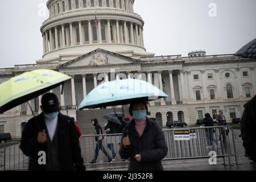
[[[42,107],[44,113],[49,114],[60,111],[59,100],[54,93],[46,93],[42,97]]]

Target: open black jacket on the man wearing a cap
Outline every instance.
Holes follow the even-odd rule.
[[[36,125],[36,121],[38,125]],[[59,147],[59,163],[61,170],[64,171],[77,171],[85,170],[84,161],[81,156],[81,148],[79,139],[77,138],[77,131],[75,123],[71,118],[59,114],[58,115],[58,129],[57,129],[57,141]],[[30,119],[23,130],[22,139],[20,142],[20,149],[26,156],[30,156],[30,162],[28,169],[32,171],[44,171],[46,165],[38,164],[38,152],[45,151],[47,154],[47,144],[38,143],[39,131],[47,130],[46,122],[44,121],[44,114],[40,114]],[[49,139],[49,136],[47,136]],[[75,166],[75,167],[74,167]]]

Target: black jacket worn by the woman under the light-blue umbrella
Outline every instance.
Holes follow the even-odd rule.
[[[127,148],[121,144],[119,154],[122,159],[130,158],[129,171],[162,171],[161,160],[167,155],[167,144],[162,128],[147,118],[147,125],[141,137],[135,129],[134,120],[123,131],[124,137],[129,135],[131,145]],[[141,162],[134,159],[141,154]]]

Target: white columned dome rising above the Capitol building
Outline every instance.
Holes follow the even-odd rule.
[[[49,18],[40,28],[44,53],[37,62],[72,60],[97,48],[154,56],[144,48],[144,21],[133,5],[134,0],[49,0]]]

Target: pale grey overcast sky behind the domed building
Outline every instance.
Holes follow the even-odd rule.
[[[43,54],[39,16],[46,0],[2,1],[0,68],[35,64]],[[207,55],[235,53],[256,38],[255,0],[135,0],[142,16],[144,42],[156,55],[182,55],[205,50]]]

